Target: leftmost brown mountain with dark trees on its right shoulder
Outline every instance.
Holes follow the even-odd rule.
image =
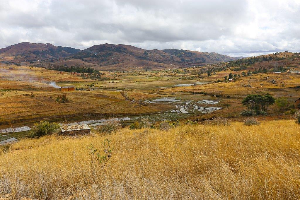
[[[71,56],[80,49],[66,46],[54,46],[50,43],[22,42],[0,49],[0,60],[11,62],[53,61]]]

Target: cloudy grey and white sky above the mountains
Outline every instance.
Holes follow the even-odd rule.
[[[0,0],[0,48],[20,42],[300,52],[300,0]]]

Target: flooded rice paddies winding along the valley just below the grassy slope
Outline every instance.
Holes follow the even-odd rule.
[[[184,119],[192,115],[206,114],[222,109],[219,104],[220,99],[202,95],[184,95],[167,97],[159,97],[154,99],[145,100],[146,103],[167,103],[173,105],[173,109],[152,113],[148,115],[134,115],[134,116],[118,116],[116,118],[92,118],[86,117],[81,119],[82,121],[75,120],[66,125],[88,124],[90,127],[97,127],[103,125],[106,121],[116,120],[120,121],[123,125],[129,125],[135,121],[140,121],[142,118],[147,118],[150,122],[158,121],[175,121],[178,119]],[[63,123],[61,122],[61,125]],[[0,145],[4,145],[10,142],[15,142],[22,137],[26,137],[29,134],[29,126],[22,127],[9,127],[6,129],[0,129]]]

